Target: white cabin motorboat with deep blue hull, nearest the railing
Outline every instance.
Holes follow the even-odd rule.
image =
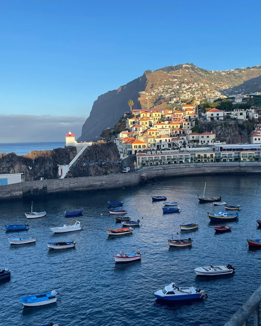
[[[191,287],[179,288],[174,282],[165,286],[162,290],[153,293],[157,299],[179,301],[179,300],[193,300],[202,298],[205,294],[204,290]]]

